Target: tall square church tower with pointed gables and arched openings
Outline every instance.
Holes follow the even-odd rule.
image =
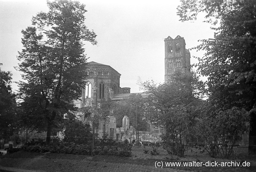
[[[178,35],[172,39],[168,36],[164,39],[164,49],[164,82],[170,80],[175,72],[190,73],[190,52],[183,37]]]

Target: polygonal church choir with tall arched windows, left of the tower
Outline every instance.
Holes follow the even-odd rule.
[[[76,107],[96,106],[101,101],[111,99],[115,95],[130,93],[131,88],[120,87],[120,76],[115,69],[108,65],[89,62],[86,66],[86,87],[82,90],[82,101],[74,100]]]

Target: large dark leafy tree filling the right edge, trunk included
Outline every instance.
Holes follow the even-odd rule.
[[[245,108],[250,112],[248,153],[256,153],[256,3],[254,0],[183,0],[178,7],[182,21],[205,19],[216,31],[213,39],[195,48],[205,50],[198,58],[200,73],[208,76],[209,102],[216,113]],[[217,27],[218,26],[218,27]]]

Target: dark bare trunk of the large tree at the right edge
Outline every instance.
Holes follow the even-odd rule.
[[[256,154],[256,114],[250,114],[250,131],[249,131],[249,146],[248,154]]]

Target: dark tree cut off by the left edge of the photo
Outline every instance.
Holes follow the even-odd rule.
[[[15,128],[15,95],[12,93],[12,74],[1,70],[0,63],[0,138],[12,136]]]

